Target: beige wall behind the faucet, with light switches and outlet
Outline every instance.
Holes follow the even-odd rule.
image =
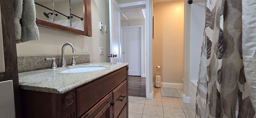
[[[91,0],[91,6],[92,37],[38,26],[40,40],[18,43],[17,56],[61,55],[62,45],[70,42],[74,45],[76,54],[90,54],[91,62],[109,62],[109,32],[99,30],[98,25],[99,22],[103,22],[109,28],[108,0]],[[82,53],[82,46],[89,47],[89,53]],[[99,47],[104,48],[104,55],[99,55]],[[65,55],[72,55],[70,46],[66,46]]]

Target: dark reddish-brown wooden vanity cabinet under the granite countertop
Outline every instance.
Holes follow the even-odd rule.
[[[21,89],[23,118],[128,118],[128,66],[63,94]]]

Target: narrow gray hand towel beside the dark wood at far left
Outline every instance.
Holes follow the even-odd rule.
[[[22,16],[22,4],[23,4],[23,0],[13,0],[14,25],[15,25],[16,40],[20,40],[20,37],[21,37],[20,19],[21,19],[21,16]]]

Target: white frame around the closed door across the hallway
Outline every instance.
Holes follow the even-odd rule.
[[[140,28],[140,63],[141,63],[141,66],[140,66],[140,76],[141,77],[146,77],[146,73],[143,73],[144,69],[146,69],[146,53],[145,53],[145,38],[144,38],[144,33],[143,33],[143,27],[142,25],[137,25],[137,26],[122,26],[121,27],[121,41],[122,41],[122,51],[124,51],[124,39],[123,39],[123,29],[131,29],[131,28]],[[123,58],[124,56],[122,56]],[[123,61],[124,59],[122,59]]]

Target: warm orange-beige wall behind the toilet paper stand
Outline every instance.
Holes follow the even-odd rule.
[[[153,81],[161,66],[161,82],[183,83],[184,1],[154,6]]]

